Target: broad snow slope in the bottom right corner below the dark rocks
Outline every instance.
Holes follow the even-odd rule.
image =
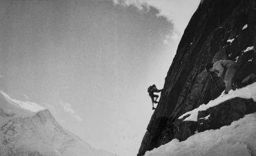
[[[246,115],[230,126],[206,130],[184,142],[172,142],[148,151],[147,156],[249,156],[256,155],[256,113]]]

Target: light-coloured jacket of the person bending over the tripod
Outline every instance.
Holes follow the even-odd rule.
[[[210,68],[210,72],[216,72],[218,77],[221,77],[224,70],[228,69],[230,66],[238,66],[238,64],[231,60],[219,60],[213,64],[213,67]]]

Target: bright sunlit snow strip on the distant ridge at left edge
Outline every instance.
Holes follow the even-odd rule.
[[[30,102],[30,101],[19,101],[17,99],[12,99],[9,97],[9,95],[7,95],[5,92],[0,91],[1,94],[6,98],[6,100],[8,102],[10,102],[10,104],[14,104],[14,105],[19,105],[21,106],[21,108],[24,108],[26,110],[30,110],[31,112],[37,112],[39,110],[44,110],[46,108],[40,106],[39,104],[36,104],[35,102]]]

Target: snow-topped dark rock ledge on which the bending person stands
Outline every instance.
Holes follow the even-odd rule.
[[[232,121],[255,113],[255,96],[256,83],[230,91],[228,95],[221,95],[206,105],[202,104],[174,121],[172,138],[184,141],[196,133],[228,126]]]

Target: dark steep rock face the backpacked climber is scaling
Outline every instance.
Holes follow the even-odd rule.
[[[197,122],[178,119],[184,113],[219,97],[205,70],[205,64],[209,62],[221,59],[237,61],[241,67],[238,78],[243,86],[253,83],[255,46],[255,0],[202,0],[185,29],[167,72],[158,108],[149,121],[138,155],[144,155],[147,150],[174,138],[183,141],[194,135],[196,130],[220,128],[255,112],[256,105],[252,100],[235,98],[200,112],[199,118],[203,119]],[[222,92],[225,88],[223,77],[214,77],[214,80]],[[206,119],[208,115],[210,118]]]

